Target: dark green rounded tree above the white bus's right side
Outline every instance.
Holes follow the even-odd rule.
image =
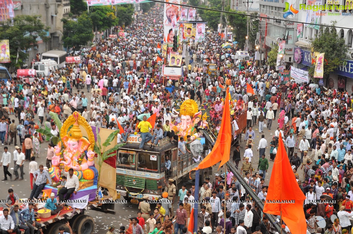
[[[62,33],[64,47],[78,49],[81,45],[86,45],[93,39],[93,24],[87,12],[83,12],[77,18],[77,21],[66,18],[61,19],[61,21],[64,23],[64,32]]]

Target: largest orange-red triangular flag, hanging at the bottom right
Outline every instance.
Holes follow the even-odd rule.
[[[301,192],[294,173],[283,173],[292,171],[288,154],[283,144],[282,136],[279,135],[279,146],[277,156],[273,165],[266,200],[288,201],[294,203],[267,203],[265,202],[263,212],[273,215],[282,215],[291,232],[295,234],[306,234],[306,220],[303,210],[305,195]],[[281,214],[282,213],[282,214]]]

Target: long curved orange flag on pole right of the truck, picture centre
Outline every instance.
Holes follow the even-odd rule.
[[[228,162],[229,155],[231,153],[231,113],[229,111],[229,88],[227,88],[226,100],[223,108],[222,124],[212,151],[202,160],[202,162],[192,169],[204,169],[210,166],[216,165],[216,163],[221,162],[218,169]]]

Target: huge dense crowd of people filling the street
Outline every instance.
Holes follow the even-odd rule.
[[[303,205],[308,233],[351,232],[348,217],[353,216],[352,96],[347,91],[322,90],[306,83],[288,82],[266,61],[256,65],[252,60],[235,59],[235,51],[239,49],[223,49],[224,39],[218,33],[206,35],[202,43],[188,43],[187,57],[183,58],[181,65],[182,77],[166,80],[161,73],[165,58],[160,59],[163,13],[154,10],[154,13],[135,14],[133,23],[125,29],[125,37],[96,38],[94,49],[82,49],[80,52],[81,63],[66,64],[60,70],[50,71],[42,79],[35,79],[32,84],[14,80],[7,81],[1,87],[0,140],[2,145],[14,143],[16,146],[13,172],[9,171],[11,153],[7,146],[4,147],[2,180],[12,180],[12,175],[15,176],[14,180],[22,180],[23,167],[28,161],[31,196],[38,197],[41,184],[38,180],[33,184],[32,178],[36,178],[38,173],[43,174],[43,178],[48,175],[43,172],[43,165],[37,168],[35,160],[39,157],[41,144],[47,144],[43,142],[50,139],[36,132],[36,129],[44,127],[47,121],[52,135],[58,135],[50,112],[57,113],[62,121],[78,111],[91,126],[109,129],[119,129],[121,126],[124,132],[118,134],[118,143],[126,143],[129,133],[140,131],[143,136],[140,148],[151,138],[150,147],[153,148],[163,137],[174,141],[174,131],[169,124],[175,122],[178,107],[187,99],[195,100],[199,110],[207,110],[209,128],[217,136],[216,126],[221,124],[226,88],[229,88],[235,118],[241,112],[247,115],[245,150],[241,152],[240,145],[236,145],[233,152],[233,161],[244,176],[245,183],[260,200],[266,200],[268,186],[265,185],[265,178],[270,161],[276,158],[281,134],[293,169],[293,172],[286,173],[294,173],[299,188],[307,198]],[[209,63],[217,65],[215,76],[208,75]],[[80,82],[84,82],[84,89],[78,89]],[[247,85],[254,94],[246,93]],[[140,114],[156,112],[154,129],[146,123],[145,117],[143,120],[137,118]],[[257,129],[258,132],[255,132]],[[270,132],[273,138],[268,143],[265,134]],[[255,142],[257,134],[260,140]],[[17,146],[17,137],[22,147]],[[179,138],[179,154],[190,151],[187,145],[191,141],[190,136],[186,141]],[[50,167],[54,145],[48,145],[46,166]],[[223,175],[216,174],[213,180],[206,178],[199,192],[195,191],[195,185],[188,190],[185,184],[177,191],[173,180],[167,182],[162,200],[178,204],[176,212],[171,203],[159,203],[152,207],[147,202],[141,202],[137,217],[130,218],[128,229],[121,227],[120,233],[187,233],[193,207],[189,201],[195,200],[195,192],[198,192],[199,200],[203,201],[197,215],[199,234],[220,234],[224,229],[226,234],[275,234],[275,227],[251,201],[242,183],[229,171]],[[16,209],[17,195],[14,196],[11,189],[8,192],[7,206],[14,205]],[[333,200],[336,203],[316,203],[316,200]],[[56,212],[59,208],[55,202],[53,204],[51,208]],[[15,209],[10,212],[17,212]],[[31,212],[29,208],[21,216],[24,221],[17,220],[16,223],[20,228],[30,227],[26,229],[26,234],[33,234],[36,226],[35,223],[28,224],[27,220],[32,219]],[[333,215],[337,218],[331,222]],[[324,227],[318,227],[316,216],[326,218]],[[0,228],[4,230],[1,222],[2,218]],[[24,223],[26,225],[22,225]],[[115,227],[110,226],[108,233],[114,230]],[[295,231],[292,230],[292,233]]]

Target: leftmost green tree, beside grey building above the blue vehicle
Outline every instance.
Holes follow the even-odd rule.
[[[0,38],[8,39],[10,45],[11,63],[4,64],[8,68],[19,68],[23,64],[28,54],[22,50],[37,45],[37,37],[44,42],[49,40],[46,36],[49,27],[43,24],[39,15],[18,15],[13,21],[0,21],[0,28]]]

